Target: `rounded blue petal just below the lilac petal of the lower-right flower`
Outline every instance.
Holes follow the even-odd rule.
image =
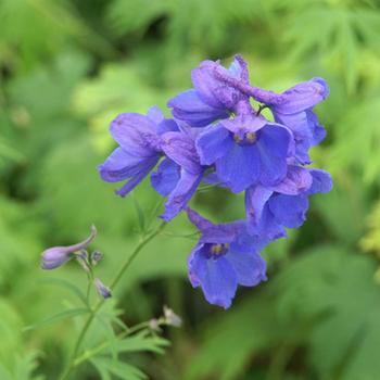
[[[303,194],[278,194],[269,200],[269,208],[279,224],[288,228],[297,228],[306,219],[308,200]]]

